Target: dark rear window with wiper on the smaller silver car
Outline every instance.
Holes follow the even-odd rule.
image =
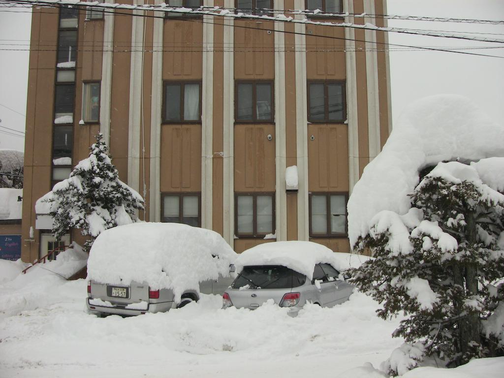
[[[231,287],[239,289],[249,285],[250,288],[290,289],[304,284],[306,277],[283,266],[244,267]]]

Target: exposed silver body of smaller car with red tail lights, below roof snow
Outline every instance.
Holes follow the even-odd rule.
[[[332,307],[352,294],[355,286],[347,278],[327,263],[314,265],[311,280],[282,265],[244,266],[223,294],[223,307],[255,309],[268,299],[294,312],[307,302]]]

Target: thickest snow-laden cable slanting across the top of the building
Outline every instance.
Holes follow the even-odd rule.
[[[5,1],[5,0],[3,0]],[[380,27],[376,25],[371,25],[371,24],[354,24],[354,23],[348,23],[348,22],[343,22],[343,23],[333,23],[333,22],[326,22],[326,21],[312,21],[309,19],[294,19],[292,17],[286,17],[285,14],[279,14],[277,16],[268,16],[268,15],[254,15],[254,14],[243,14],[241,12],[238,13],[233,13],[228,9],[224,8],[219,8],[219,7],[201,7],[197,10],[191,9],[188,10],[189,8],[174,8],[174,7],[166,7],[166,6],[155,6],[155,5],[125,5],[125,4],[108,4],[108,3],[99,3],[95,5],[89,5],[87,2],[81,2],[78,0],[53,0],[52,2],[48,1],[43,1],[43,0],[11,0],[14,3],[19,3],[19,4],[31,4],[31,5],[41,5],[41,6],[46,6],[49,8],[55,8],[58,6],[65,6],[65,5],[71,5],[73,7],[76,7],[77,9],[87,9],[87,8],[93,8],[93,10],[96,10],[97,8],[102,8],[104,13],[110,13],[110,12],[105,12],[105,10],[110,10],[110,9],[121,9],[121,10],[137,10],[137,11],[157,11],[157,12],[164,12],[164,13],[178,13],[180,15],[187,15],[187,14],[194,14],[194,15],[201,15],[201,16],[212,16],[212,17],[228,17],[228,18],[233,18],[233,19],[249,19],[249,20],[261,20],[261,21],[274,21],[274,22],[282,22],[282,23],[300,23],[300,24],[305,24],[305,25],[321,25],[321,26],[333,26],[333,27],[343,27],[343,28],[352,28],[352,29],[361,29],[361,30],[372,30],[372,31],[384,31],[384,32],[393,32],[393,33],[405,33],[405,34],[414,34],[414,35],[425,35],[425,36],[431,36],[431,37],[440,37],[440,38],[455,38],[455,39],[467,39],[467,40],[473,40],[473,41],[480,41],[480,42],[496,42],[496,43],[504,43],[504,39],[498,39],[498,38],[486,38],[486,37],[477,37],[477,36],[466,36],[466,35],[459,35],[459,34],[450,34],[450,33],[438,33],[438,32],[428,32],[428,31],[423,31],[423,30],[407,30],[407,29],[402,29],[402,28],[393,28],[393,27]],[[234,10],[236,11],[236,9]],[[243,10],[242,10],[243,11]],[[262,10],[266,11],[266,10]],[[304,12],[304,13],[302,13]],[[308,14],[306,11],[299,11],[298,13],[291,13],[292,15],[304,15]],[[324,13],[317,13],[316,11],[313,11],[309,13],[312,16],[334,16],[334,14],[324,14]],[[146,15],[135,15],[135,16],[146,16]],[[337,15],[341,18],[341,15]],[[152,17],[158,17],[158,16],[152,16]],[[164,17],[163,17],[164,18]],[[502,22],[504,24],[504,21]]]

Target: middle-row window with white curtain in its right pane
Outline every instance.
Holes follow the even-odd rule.
[[[200,122],[200,83],[164,84],[164,122]]]

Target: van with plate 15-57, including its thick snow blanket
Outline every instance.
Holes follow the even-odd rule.
[[[222,294],[236,258],[217,233],[178,223],[134,223],[102,232],[88,259],[89,311],[138,315]]]

